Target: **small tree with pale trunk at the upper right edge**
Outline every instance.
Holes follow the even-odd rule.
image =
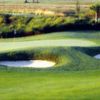
[[[99,13],[100,13],[100,3],[92,5],[90,9],[95,11],[95,21],[98,23]]]

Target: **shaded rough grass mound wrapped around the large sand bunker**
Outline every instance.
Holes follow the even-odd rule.
[[[46,69],[34,68],[10,68],[1,67],[1,70],[18,70],[18,71],[34,71],[34,70],[49,70],[49,71],[82,71],[100,69],[100,61],[87,54],[83,50],[76,50],[75,47],[46,47],[24,49],[20,51],[9,51],[0,53],[0,60],[27,60],[27,59],[42,59],[55,61],[56,65]]]

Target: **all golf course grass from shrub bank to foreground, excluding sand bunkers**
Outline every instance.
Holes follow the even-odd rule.
[[[100,50],[99,38],[99,31],[85,31],[0,39],[0,60],[56,62],[46,69],[1,66],[0,99],[99,100],[100,60],[88,54]]]

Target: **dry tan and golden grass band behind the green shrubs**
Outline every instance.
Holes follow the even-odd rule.
[[[89,9],[90,5],[81,5],[82,10]],[[55,5],[55,4],[0,4],[1,13],[21,13],[21,14],[44,14],[44,15],[58,15],[64,16],[63,12],[75,11],[76,5]]]

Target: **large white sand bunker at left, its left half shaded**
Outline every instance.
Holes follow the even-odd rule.
[[[46,60],[0,61],[0,65],[8,67],[49,68],[53,67],[55,62]]]

